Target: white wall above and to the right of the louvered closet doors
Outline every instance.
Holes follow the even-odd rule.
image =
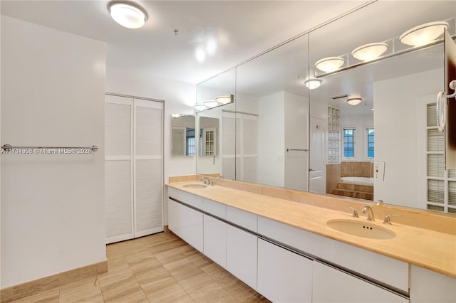
[[[171,156],[172,113],[195,115],[196,86],[177,80],[157,78],[145,72],[106,67],[106,92],[165,100],[165,182],[170,176],[195,174],[195,156]]]

